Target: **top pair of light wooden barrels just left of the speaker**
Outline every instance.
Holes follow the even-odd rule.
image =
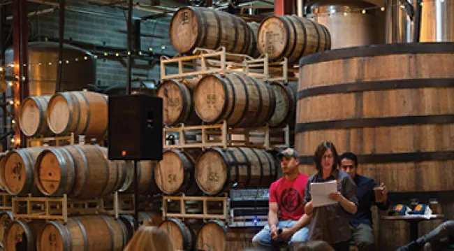
[[[30,96],[20,107],[20,129],[29,137],[104,138],[108,129],[108,97],[97,92],[59,92]]]

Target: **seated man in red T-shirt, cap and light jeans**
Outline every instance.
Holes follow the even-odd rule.
[[[305,215],[302,202],[309,177],[298,171],[300,161],[295,150],[288,148],[280,152],[278,157],[281,160],[284,177],[274,181],[270,186],[268,225],[252,238],[256,248],[277,250],[280,242],[286,241],[291,244],[307,240],[309,230],[304,226],[310,219]],[[298,220],[300,223],[296,226]]]

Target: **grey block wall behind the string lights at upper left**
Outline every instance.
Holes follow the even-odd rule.
[[[47,6],[29,6],[29,11],[36,10],[36,7],[43,9]],[[126,40],[126,15],[127,11],[120,8],[100,7],[87,5],[66,10],[65,39],[94,43],[115,48],[127,48]],[[135,17],[152,15],[134,11]],[[156,20],[141,22],[141,50],[162,52],[166,55],[175,55],[168,38],[169,22],[171,17],[161,17]],[[53,13],[31,17],[32,38],[58,38],[59,36],[59,10]],[[162,46],[165,49],[162,49]],[[156,58],[159,59],[159,58]],[[101,87],[112,87],[113,85],[125,85],[126,83],[126,62],[123,59],[119,62],[115,59],[103,59],[100,56],[96,65],[96,85]],[[153,62],[157,64],[153,64]],[[133,69],[133,79],[159,80],[159,60],[142,61],[137,60],[140,67]]]

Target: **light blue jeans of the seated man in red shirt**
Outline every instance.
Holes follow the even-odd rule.
[[[296,220],[283,220],[277,224],[277,227],[278,228],[293,227],[293,225],[296,222],[297,222]],[[297,231],[295,234],[293,234],[293,236],[288,241],[288,244],[291,244],[293,242],[307,241],[308,233],[309,233],[309,229],[307,229],[306,227],[303,227],[302,229]],[[268,249],[272,248],[273,250],[279,248],[279,244],[280,244],[279,241],[274,241],[271,238],[271,229],[270,229],[270,226],[268,226],[268,224],[266,224],[266,226],[263,227],[263,229],[260,232],[258,232],[258,234],[256,234],[256,236],[254,236],[254,238],[252,238],[252,243],[254,243],[254,246],[256,248],[268,248]]]

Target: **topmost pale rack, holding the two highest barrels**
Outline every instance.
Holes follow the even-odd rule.
[[[177,68],[177,73],[168,73],[168,69]],[[249,55],[226,52],[226,48],[208,50],[196,48],[193,55],[174,58],[161,57],[161,81],[168,79],[183,79],[190,77],[202,77],[208,74],[221,74],[243,72],[249,76],[264,81],[280,81],[287,83],[288,78],[287,59],[281,62],[270,63],[268,55],[262,55],[257,59]],[[297,74],[293,74],[298,76]]]

